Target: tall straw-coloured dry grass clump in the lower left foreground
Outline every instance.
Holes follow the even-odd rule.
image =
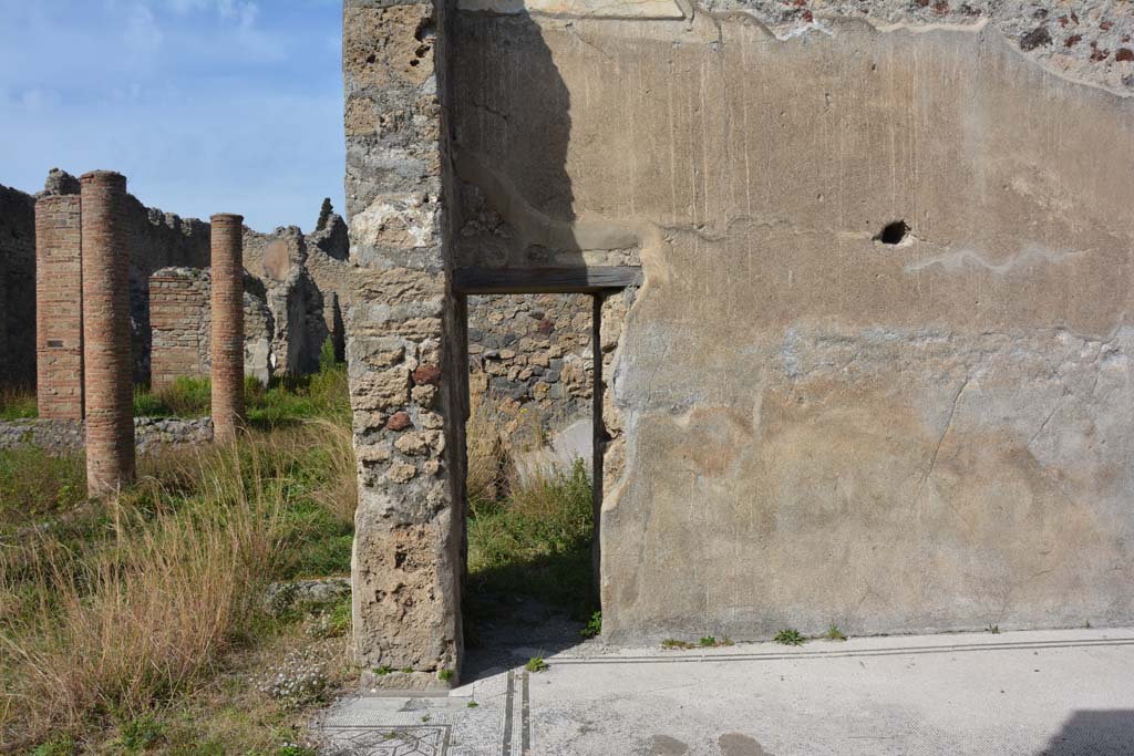
[[[3,617],[9,738],[137,716],[215,664],[269,577],[282,503],[278,481],[254,473],[262,485],[248,496],[225,467],[198,468],[212,516],[187,508],[147,519],[117,504],[109,543],[70,552],[43,542],[31,576],[26,557],[0,559],[3,595],[34,597]]]

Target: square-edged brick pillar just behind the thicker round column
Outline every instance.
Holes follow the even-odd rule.
[[[36,399],[43,419],[83,419],[83,235],[78,195],[35,203]]]

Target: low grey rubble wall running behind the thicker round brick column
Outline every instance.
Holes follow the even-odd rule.
[[[35,447],[51,453],[83,449],[84,424],[81,421],[9,421],[0,423],[0,449]],[[139,455],[164,447],[201,445],[212,441],[212,422],[198,419],[136,417],[134,439]]]

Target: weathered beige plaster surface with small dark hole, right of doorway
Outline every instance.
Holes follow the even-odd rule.
[[[1128,6],[863,5],[456,19],[472,239],[645,269],[604,371],[613,642],[1134,619]],[[1055,59],[1072,11],[1106,60]]]

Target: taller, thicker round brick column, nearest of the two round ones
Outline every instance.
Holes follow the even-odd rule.
[[[102,496],[134,479],[126,177],[94,171],[79,180],[86,482],[91,496]]]

